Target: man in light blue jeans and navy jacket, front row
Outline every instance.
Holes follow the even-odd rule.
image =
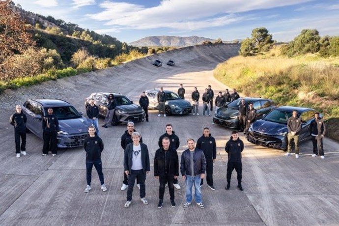
[[[205,206],[202,203],[200,191],[201,179],[205,177],[206,160],[203,151],[195,148],[195,141],[190,138],[187,140],[188,149],[181,155],[180,171],[182,178],[186,181],[186,202],[184,207],[188,207],[192,203],[192,187],[194,184],[197,205],[200,208]]]

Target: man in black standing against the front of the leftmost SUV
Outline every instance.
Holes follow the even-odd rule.
[[[47,110],[47,115],[42,117],[42,131],[44,145],[42,148],[42,155],[46,156],[51,150],[53,156],[57,155],[57,132],[59,131],[59,121],[57,116],[53,114],[53,109]]]

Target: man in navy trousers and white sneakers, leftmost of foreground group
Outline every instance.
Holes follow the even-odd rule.
[[[90,182],[92,179],[92,168],[93,165],[98,172],[101,187],[103,192],[107,191],[104,182],[104,173],[102,172],[102,162],[101,162],[101,153],[104,150],[104,143],[101,138],[95,133],[95,127],[88,127],[89,136],[84,140],[84,149],[86,152],[86,180],[87,186],[85,188],[85,192],[89,192],[92,188],[90,186]]]

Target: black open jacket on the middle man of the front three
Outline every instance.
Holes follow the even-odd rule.
[[[168,171],[166,171],[166,165]],[[169,148],[165,151],[161,147],[154,155],[154,176],[165,176],[165,174],[179,176],[179,159],[175,150]]]

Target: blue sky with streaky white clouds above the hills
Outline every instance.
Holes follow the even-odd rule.
[[[265,27],[276,41],[302,29],[339,36],[339,0],[13,0],[26,11],[53,16],[122,42],[147,36],[199,36],[223,41]]]

